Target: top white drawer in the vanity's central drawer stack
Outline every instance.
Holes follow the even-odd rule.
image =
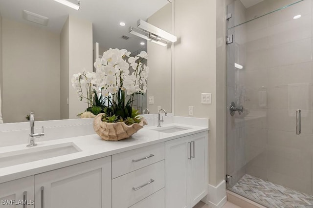
[[[112,178],[164,160],[164,142],[112,155]]]

